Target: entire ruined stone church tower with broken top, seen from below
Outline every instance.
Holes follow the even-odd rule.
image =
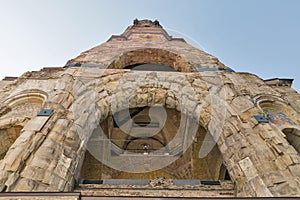
[[[292,81],[136,19],[63,67],[0,81],[0,199],[299,197]]]

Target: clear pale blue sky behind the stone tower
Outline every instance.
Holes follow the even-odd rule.
[[[300,91],[300,0],[0,0],[0,78],[63,66],[158,19],[235,71],[294,78]]]

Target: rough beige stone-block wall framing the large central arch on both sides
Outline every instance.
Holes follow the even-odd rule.
[[[25,125],[0,161],[1,190],[72,191],[89,135],[108,116],[112,101],[133,90],[135,95],[129,102],[120,101],[124,105],[117,110],[126,104],[157,104],[199,116],[200,124],[217,139],[238,196],[300,194],[299,154],[276,125],[253,118],[263,114],[255,104],[257,96],[282,94],[252,74],[65,68],[48,74],[52,79],[47,82],[36,78],[43,73],[25,74],[18,87],[7,87],[11,94],[45,91],[44,108],[54,114],[33,117]],[[298,101],[299,95],[293,98]]]

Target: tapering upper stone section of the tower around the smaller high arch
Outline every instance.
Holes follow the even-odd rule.
[[[97,64],[123,68],[126,63],[124,58],[134,60],[129,62],[132,64],[145,63],[146,60],[152,63],[163,61],[161,64],[179,68],[183,72],[199,68],[227,68],[216,57],[189,45],[183,39],[170,37],[164,29],[155,26],[130,26],[120,36],[113,36],[107,42],[69,60],[67,64]]]

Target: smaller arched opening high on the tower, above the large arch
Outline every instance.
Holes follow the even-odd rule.
[[[144,65],[145,64],[145,65]],[[136,49],[123,53],[109,69],[158,69],[159,71],[191,72],[192,65],[180,55],[155,48]]]

